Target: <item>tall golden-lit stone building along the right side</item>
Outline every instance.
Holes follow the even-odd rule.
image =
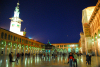
[[[85,53],[100,56],[100,0],[96,6],[87,7],[82,11],[83,33],[80,33],[81,44]],[[84,51],[84,50],[83,50]]]

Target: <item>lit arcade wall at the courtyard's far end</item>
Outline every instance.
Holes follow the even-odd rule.
[[[55,43],[51,45],[55,46],[55,50],[57,50],[58,53],[81,52],[81,44],[79,43]]]

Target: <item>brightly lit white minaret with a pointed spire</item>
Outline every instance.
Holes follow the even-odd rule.
[[[15,11],[14,11],[14,17],[10,18],[11,19],[11,23],[10,23],[10,31],[20,34],[20,30],[21,30],[21,22],[23,20],[21,20],[19,18],[19,2],[17,3],[17,6],[15,7]]]

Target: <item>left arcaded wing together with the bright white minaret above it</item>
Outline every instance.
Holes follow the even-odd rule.
[[[19,18],[19,3],[14,11],[14,17],[10,18],[10,31],[0,28],[0,53],[3,51],[4,55],[8,55],[13,52],[17,53],[42,53],[41,42],[35,41],[25,37],[25,30],[21,32],[21,20]]]

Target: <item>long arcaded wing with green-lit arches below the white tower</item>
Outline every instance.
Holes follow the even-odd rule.
[[[29,39],[27,37],[15,34],[8,30],[0,28],[0,53],[3,51],[5,55],[13,52],[17,53],[42,53],[41,42]]]

